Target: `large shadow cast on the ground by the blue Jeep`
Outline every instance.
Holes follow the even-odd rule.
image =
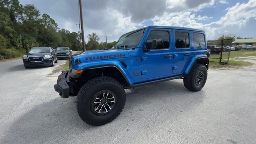
[[[118,130],[126,132],[125,125],[131,126],[131,121],[133,127],[146,126],[157,120],[164,122],[165,118],[178,116],[181,111],[200,104],[204,96],[204,91],[188,91],[181,80],[126,90],[126,105],[120,116],[104,126],[90,126],[76,112],[76,97],[62,99],[56,94],[53,100],[35,106],[15,120],[6,130],[1,143],[66,143],[79,138],[80,134],[84,137],[94,134],[92,137],[96,138],[105,130],[109,130],[107,136],[113,136]]]

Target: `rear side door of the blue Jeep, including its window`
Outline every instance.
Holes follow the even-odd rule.
[[[190,42],[190,32],[187,30],[172,30],[173,34],[173,67],[172,73],[182,74],[184,72],[188,62],[192,56],[191,42]]]

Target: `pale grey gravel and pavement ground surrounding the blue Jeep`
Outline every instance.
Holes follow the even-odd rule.
[[[126,105],[104,126],[84,123],[76,97],[54,91],[54,67],[0,62],[1,144],[256,143],[256,66],[208,70],[199,92],[182,79],[126,90]]]

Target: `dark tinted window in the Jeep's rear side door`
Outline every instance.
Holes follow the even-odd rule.
[[[189,48],[188,32],[175,32],[175,47]]]

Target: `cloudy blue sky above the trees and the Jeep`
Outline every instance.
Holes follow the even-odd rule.
[[[59,28],[78,32],[78,0],[20,0],[48,14]],[[85,41],[96,32],[108,42],[144,26],[182,26],[206,32],[256,38],[256,0],[82,0]]]

